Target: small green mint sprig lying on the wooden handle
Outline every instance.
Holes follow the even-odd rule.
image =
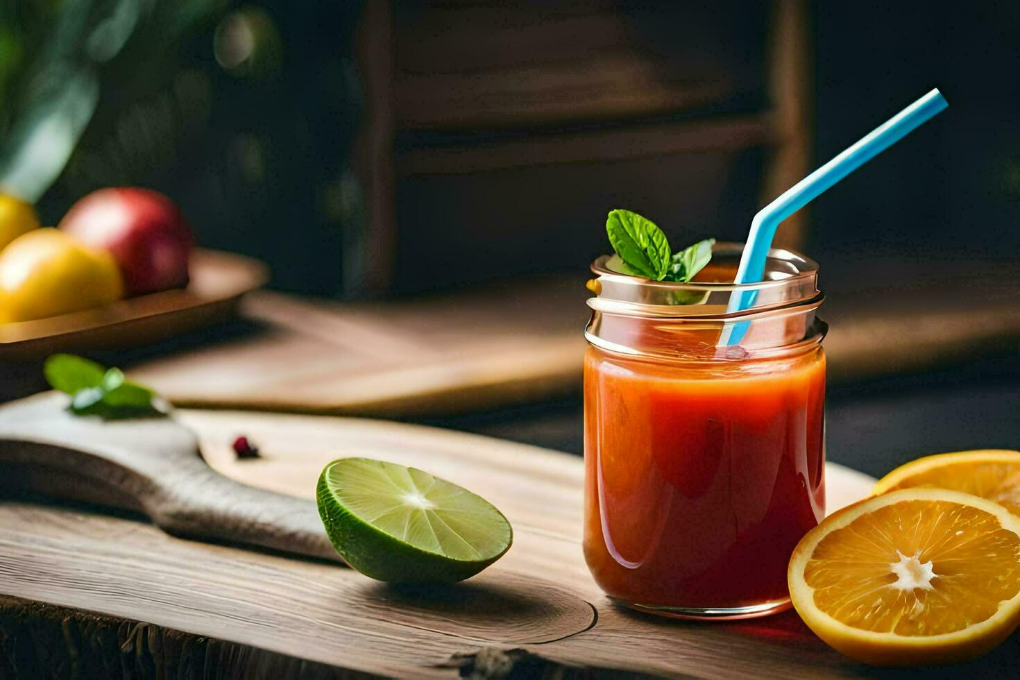
[[[164,415],[156,394],[132,382],[119,368],[105,368],[72,354],[55,354],[43,364],[54,389],[70,395],[67,407],[76,416],[112,420]]]

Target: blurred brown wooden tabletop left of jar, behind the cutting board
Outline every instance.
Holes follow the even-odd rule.
[[[586,295],[579,281],[546,279],[501,301],[490,291],[374,305],[259,293],[243,309],[264,332],[132,375],[182,406],[406,415],[544,399],[575,388]]]

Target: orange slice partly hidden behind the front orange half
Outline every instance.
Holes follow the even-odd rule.
[[[912,486],[973,493],[1020,516],[1020,451],[961,451],[919,458],[879,479],[874,493]]]

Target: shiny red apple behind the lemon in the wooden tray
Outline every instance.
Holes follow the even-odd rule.
[[[129,295],[188,284],[192,230],[173,201],[158,192],[100,189],[71,206],[58,226],[108,251],[120,265]]]

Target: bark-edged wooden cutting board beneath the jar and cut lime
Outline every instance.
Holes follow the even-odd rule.
[[[578,458],[370,420],[199,411],[180,418],[218,472],[307,499],[289,500],[297,516],[314,511],[310,499],[326,462],[376,457],[490,499],[513,523],[514,545],[465,583],[396,588],[335,563],[279,553],[286,543],[277,552],[241,550],[174,537],[134,514],[8,500],[0,503],[0,669],[8,668],[6,655],[8,663],[19,661],[22,677],[49,674],[57,660],[66,674],[72,653],[93,673],[115,665],[166,677],[202,668],[255,677],[868,674],[793,613],[698,624],[613,606],[580,554]],[[262,458],[236,460],[230,442],[242,433]],[[831,505],[866,494],[871,481],[830,464]],[[202,503],[177,490],[175,502]],[[270,518],[273,507],[267,504]],[[1016,645],[1004,647],[1016,656]],[[1005,653],[989,658],[994,668],[1016,667]]]

